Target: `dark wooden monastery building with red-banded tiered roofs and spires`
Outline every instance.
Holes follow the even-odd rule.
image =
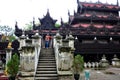
[[[55,35],[56,32],[62,36],[72,34],[75,37],[75,55],[81,54],[86,62],[99,61],[103,54],[109,61],[116,54],[120,58],[120,6],[117,4],[80,2],[77,0],[77,12],[69,16],[68,23],[61,19],[61,26],[55,27],[57,20],[54,20],[49,11],[40,19],[41,25],[35,24],[33,19],[33,30],[25,34],[33,35],[35,31],[44,36],[47,33]],[[22,35],[16,24],[15,34]]]

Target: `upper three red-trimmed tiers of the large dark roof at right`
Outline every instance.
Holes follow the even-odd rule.
[[[120,20],[119,11],[120,6],[110,5],[103,3],[88,3],[78,2],[78,12],[74,12],[73,16],[70,16],[71,25],[73,27],[87,28],[93,23],[95,28],[103,28],[103,22],[105,28],[113,28]],[[113,10],[114,11],[113,11]],[[102,10],[102,11],[101,11]],[[112,23],[111,23],[112,22]]]

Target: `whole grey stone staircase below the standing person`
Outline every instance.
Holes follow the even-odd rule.
[[[41,49],[35,80],[58,80],[53,48]]]

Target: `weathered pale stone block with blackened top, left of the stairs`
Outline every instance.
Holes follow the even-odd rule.
[[[20,66],[22,76],[35,74],[35,47],[24,46],[20,54]]]

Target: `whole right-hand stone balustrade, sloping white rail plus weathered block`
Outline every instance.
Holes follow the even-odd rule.
[[[66,40],[57,40],[55,36],[54,50],[56,54],[56,65],[59,80],[73,80],[72,61],[74,53],[74,38],[72,36],[68,36]]]

